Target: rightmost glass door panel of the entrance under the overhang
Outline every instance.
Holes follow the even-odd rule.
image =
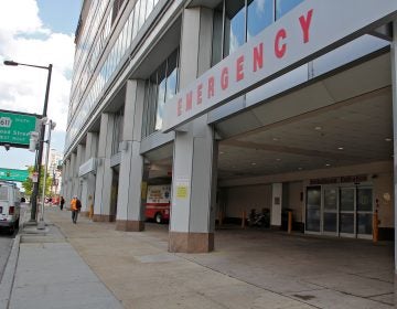
[[[357,237],[372,238],[373,233],[373,190],[357,188]]]

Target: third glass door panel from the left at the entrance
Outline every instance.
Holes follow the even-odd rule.
[[[341,188],[339,233],[344,237],[355,237],[355,188]]]

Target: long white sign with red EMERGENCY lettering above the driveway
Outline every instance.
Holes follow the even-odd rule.
[[[397,17],[396,0],[305,0],[182,89],[168,132]]]

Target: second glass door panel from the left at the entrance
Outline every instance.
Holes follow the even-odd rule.
[[[337,201],[339,188],[325,188],[323,190],[323,234],[337,235]]]

